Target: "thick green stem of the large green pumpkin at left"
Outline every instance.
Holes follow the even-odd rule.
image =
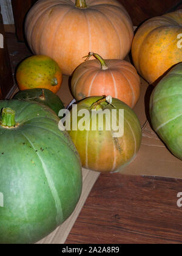
[[[15,111],[12,108],[2,108],[1,126],[7,128],[15,128]]]

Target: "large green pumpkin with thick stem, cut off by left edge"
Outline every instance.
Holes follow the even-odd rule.
[[[0,109],[0,243],[35,243],[76,207],[78,152],[49,107],[12,100]]]

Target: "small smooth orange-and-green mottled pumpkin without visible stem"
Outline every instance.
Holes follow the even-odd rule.
[[[44,55],[23,60],[16,71],[19,90],[46,88],[56,93],[61,87],[62,73],[58,63]]]

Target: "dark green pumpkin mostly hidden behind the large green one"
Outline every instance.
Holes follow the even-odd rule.
[[[61,99],[58,95],[54,94],[52,91],[43,88],[35,88],[29,90],[18,91],[13,99],[18,99],[19,101],[36,101],[41,104],[50,107],[56,115],[58,115],[59,110],[64,108]]]

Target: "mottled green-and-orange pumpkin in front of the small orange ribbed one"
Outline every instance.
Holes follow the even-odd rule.
[[[141,126],[128,105],[119,99],[108,101],[107,98],[111,97],[92,96],[79,101],[66,116],[65,127],[84,168],[116,172],[135,158],[141,144]],[[81,113],[85,116],[81,117]]]

